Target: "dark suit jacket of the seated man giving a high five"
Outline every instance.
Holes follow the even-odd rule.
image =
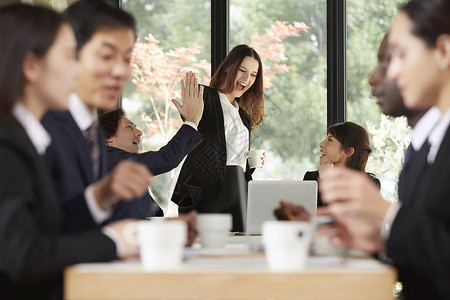
[[[183,125],[175,136],[159,151],[130,153],[115,147],[107,147],[108,170],[113,169],[121,160],[131,159],[145,164],[153,175],[166,173],[176,168],[183,158],[202,141],[201,134],[189,125]],[[124,218],[145,219],[159,214],[159,206],[145,193],[133,201],[119,201],[113,206],[108,222]]]

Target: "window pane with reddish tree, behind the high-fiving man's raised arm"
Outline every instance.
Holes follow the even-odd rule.
[[[211,2],[123,0],[123,8],[137,20],[139,41],[122,106],[144,133],[140,151],[158,150],[182,125],[170,99],[180,99],[184,73],[195,71],[201,83],[209,83]],[[155,178],[159,197],[154,198],[163,209],[177,174],[178,169]]]

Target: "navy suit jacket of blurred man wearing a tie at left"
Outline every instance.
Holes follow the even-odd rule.
[[[64,228],[77,232],[97,228],[86,205],[84,190],[94,183],[89,145],[70,112],[48,112],[42,124],[52,137],[45,154],[64,212]],[[106,149],[103,132],[98,131],[100,145],[99,177],[106,175]]]

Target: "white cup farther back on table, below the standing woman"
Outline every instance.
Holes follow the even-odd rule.
[[[232,223],[231,214],[198,214],[195,224],[202,247],[224,248]]]

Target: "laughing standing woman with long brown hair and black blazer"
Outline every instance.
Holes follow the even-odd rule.
[[[205,87],[203,142],[187,156],[172,196],[180,213],[231,213],[232,230],[243,231],[239,194],[254,170],[245,157],[250,133],[264,117],[262,67],[253,48],[238,45]]]

